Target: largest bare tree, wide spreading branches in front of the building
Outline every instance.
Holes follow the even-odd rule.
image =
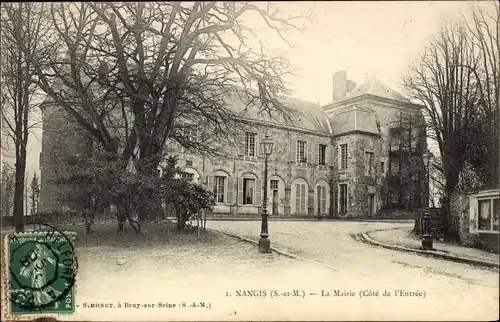
[[[50,16],[52,59],[32,57],[39,85],[104,150],[145,175],[156,175],[169,142],[225,151],[242,125],[234,101],[286,118],[279,98],[293,69],[267,55],[245,21],[260,19],[285,41],[286,29],[312,21],[255,2],[54,3]]]

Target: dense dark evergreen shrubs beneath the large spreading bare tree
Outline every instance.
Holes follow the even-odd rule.
[[[132,227],[137,232],[140,231],[140,222],[162,216],[162,209],[145,211],[151,204],[172,205],[179,229],[194,214],[213,210],[215,199],[212,193],[199,184],[180,178],[182,170],[177,166],[176,157],[167,158],[161,177],[130,171],[121,162],[106,151],[74,159],[58,183],[78,186],[80,194],[76,198],[80,204],[82,201],[86,203],[84,207],[90,208],[92,213],[116,205],[119,227],[123,228],[123,222],[128,219],[134,223]],[[75,198],[74,190],[69,195]]]

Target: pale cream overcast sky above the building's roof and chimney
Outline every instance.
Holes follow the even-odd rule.
[[[296,98],[326,104],[332,100],[332,75],[339,70],[357,84],[376,76],[403,92],[401,77],[417,58],[440,21],[459,19],[470,2],[460,1],[323,1],[281,2],[285,14],[297,15],[312,9],[316,24],[303,32],[287,33],[294,45],[287,47],[272,36],[262,22],[259,39],[270,49],[288,54],[298,68],[297,78],[287,82]],[[260,23],[260,25],[259,25]],[[27,177],[39,173],[41,131],[35,130],[28,145]],[[3,143],[3,140],[2,140]],[[13,162],[11,162],[13,164]]]

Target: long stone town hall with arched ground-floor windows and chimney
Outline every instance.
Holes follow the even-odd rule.
[[[185,176],[214,192],[215,212],[228,216],[261,211],[264,162],[260,142],[266,134],[274,142],[269,159],[268,209],[276,216],[374,217],[386,205],[385,176],[389,171],[394,174],[402,173],[405,167],[411,169],[408,154],[421,161],[426,149],[421,106],[408,103],[376,78],[356,86],[346,78],[346,72],[337,72],[331,103],[319,106],[286,98],[284,103],[293,111],[286,122],[266,118],[257,108],[242,112],[245,104],[241,99],[233,97],[229,102],[252,126],[240,133],[238,144],[227,147],[225,158],[202,157],[175,145],[169,145],[167,151],[179,157]],[[410,127],[409,133],[417,135],[403,135],[403,116],[420,125],[413,130]],[[45,119],[57,122],[48,114]],[[78,145],[71,143],[72,135],[60,136],[45,131],[44,122],[40,208],[45,212],[63,207],[54,193],[54,169],[64,167],[51,158],[55,145],[71,145],[71,149]],[[402,141],[409,142],[406,148],[401,149]],[[397,151],[391,148],[394,145],[398,145]],[[420,203],[413,202],[413,206],[425,206],[426,178],[418,172],[413,179],[413,193],[418,196],[414,200]]]

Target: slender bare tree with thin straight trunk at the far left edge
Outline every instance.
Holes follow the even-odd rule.
[[[24,229],[24,194],[26,147],[30,132],[30,113],[40,95],[29,56],[42,61],[47,24],[40,3],[2,3],[1,6],[1,70],[2,126],[6,127],[15,149],[14,226]]]

